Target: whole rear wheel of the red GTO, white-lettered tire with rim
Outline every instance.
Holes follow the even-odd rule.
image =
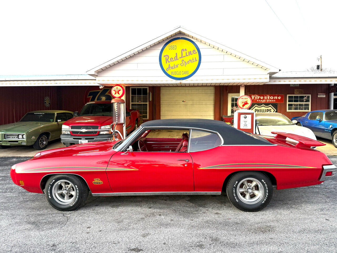
[[[251,188],[250,184],[252,184],[253,181],[255,181],[257,185]],[[245,184],[247,184],[248,188]],[[252,192],[249,197],[245,198],[246,191],[240,193],[239,189],[249,189]],[[258,194],[255,195],[253,191],[257,191]],[[265,208],[270,202],[273,196],[273,185],[270,179],[261,172],[242,171],[229,178],[226,193],[229,201],[238,209],[245,212],[256,212]]]

